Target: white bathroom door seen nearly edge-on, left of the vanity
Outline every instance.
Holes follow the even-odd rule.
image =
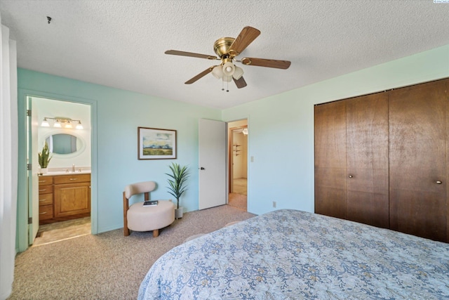
[[[38,155],[39,147],[37,145],[37,112],[32,111],[32,107],[36,107],[34,99],[28,97],[28,111],[31,111],[31,117],[27,117],[27,163],[31,164],[31,169],[27,171],[28,181],[28,244],[33,244],[39,230],[39,171]]]

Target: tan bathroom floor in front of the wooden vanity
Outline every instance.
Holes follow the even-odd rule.
[[[39,226],[33,247],[91,234],[91,217]]]

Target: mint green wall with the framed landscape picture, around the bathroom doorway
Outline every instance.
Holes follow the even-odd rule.
[[[198,209],[198,120],[221,119],[220,110],[24,69],[18,69],[18,89],[20,149],[25,148],[22,112],[25,113],[26,95],[92,105],[92,214],[98,221],[93,226],[94,233],[123,227],[122,192],[129,183],[156,181],[159,186],[152,198],[170,199],[165,173],[171,162],[191,167],[189,190],[181,204],[185,211]],[[138,160],[138,126],[177,130],[177,159]],[[22,169],[25,152],[19,155]],[[25,189],[23,173],[19,190]],[[20,197],[24,193],[19,195],[19,214],[23,218],[25,204]]]

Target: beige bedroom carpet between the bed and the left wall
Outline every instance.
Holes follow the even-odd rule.
[[[167,228],[123,229],[31,247],[16,256],[9,299],[136,299],[154,261],[187,237],[254,216],[229,205],[185,213]]]

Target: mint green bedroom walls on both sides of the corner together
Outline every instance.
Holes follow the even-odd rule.
[[[198,209],[198,119],[248,119],[248,156],[253,157],[253,162],[248,159],[248,211],[271,211],[273,201],[276,209],[314,211],[314,105],[443,77],[449,77],[449,45],[220,112],[19,69],[19,168],[25,168],[26,95],[91,105],[92,214],[98,219],[93,233],[101,233],[123,226],[121,192],[126,184],[154,180],[159,188],[152,196],[169,196],[164,173],[172,161],[137,159],[138,126],[177,130],[176,162],[192,167],[182,205],[193,211]],[[19,173],[19,240],[27,236],[20,223],[27,218],[25,176]]]

